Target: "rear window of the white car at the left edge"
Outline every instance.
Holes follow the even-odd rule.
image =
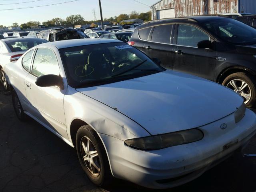
[[[6,41],[5,43],[8,45],[12,52],[17,51],[25,51],[28,50],[36,45],[47,43],[48,41],[45,39],[33,38],[33,39],[26,39],[20,38],[16,40]]]

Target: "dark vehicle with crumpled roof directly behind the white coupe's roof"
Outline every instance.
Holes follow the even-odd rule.
[[[55,28],[41,31],[38,34],[38,38],[43,38],[48,41],[61,41],[68,39],[85,39],[89,37],[80,30],[70,28]]]

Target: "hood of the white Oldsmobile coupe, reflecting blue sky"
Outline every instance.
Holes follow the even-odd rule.
[[[152,135],[214,122],[234,112],[243,102],[224,86],[169,70],[77,90],[117,108]]]

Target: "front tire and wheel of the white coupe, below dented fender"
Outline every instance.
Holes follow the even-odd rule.
[[[88,125],[76,133],[76,152],[79,162],[92,183],[106,186],[112,181],[112,174],[104,146],[96,132]]]

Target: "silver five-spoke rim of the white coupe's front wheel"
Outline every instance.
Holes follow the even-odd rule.
[[[97,177],[100,174],[100,160],[98,152],[92,143],[92,141],[84,136],[80,142],[81,156],[84,160],[84,166],[88,171],[94,176]]]

